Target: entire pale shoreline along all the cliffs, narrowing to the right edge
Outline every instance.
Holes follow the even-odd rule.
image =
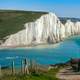
[[[11,50],[11,49],[44,49],[44,48],[56,48],[60,44],[64,43],[66,40],[74,39],[80,37],[80,35],[71,36],[68,38],[65,38],[64,40],[56,43],[38,43],[38,44],[31,44],[31,45],[19,45],[19,46],[0,46],[0,50]]]

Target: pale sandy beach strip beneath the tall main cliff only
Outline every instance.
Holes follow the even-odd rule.
[[[58,47],[60,43],[55,44],[37,44],[37,45],[31,45],[31,46],[1,46],[0,50],[16,50],[16,49],[45,49],[45,48],[56,48]]]

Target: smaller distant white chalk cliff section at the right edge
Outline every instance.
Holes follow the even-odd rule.
[[[71,35],[80,34],[80,22],[71,22],[68,20],[65,24],[65,35],[66,37]]]

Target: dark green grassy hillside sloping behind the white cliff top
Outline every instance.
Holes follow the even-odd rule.
[[[0,10],[0,39],[24,29],[24,24],[35,21],[45,12]]]

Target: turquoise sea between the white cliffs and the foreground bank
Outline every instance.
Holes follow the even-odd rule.
[[[70,37],[55,48],[0,50],[1,66],[11,65],[12,60],[15,61],[16,66],[20,66],[23,58],[35,60],[44,65],[65,63],[71,58],[80,58],[80,36]]]

